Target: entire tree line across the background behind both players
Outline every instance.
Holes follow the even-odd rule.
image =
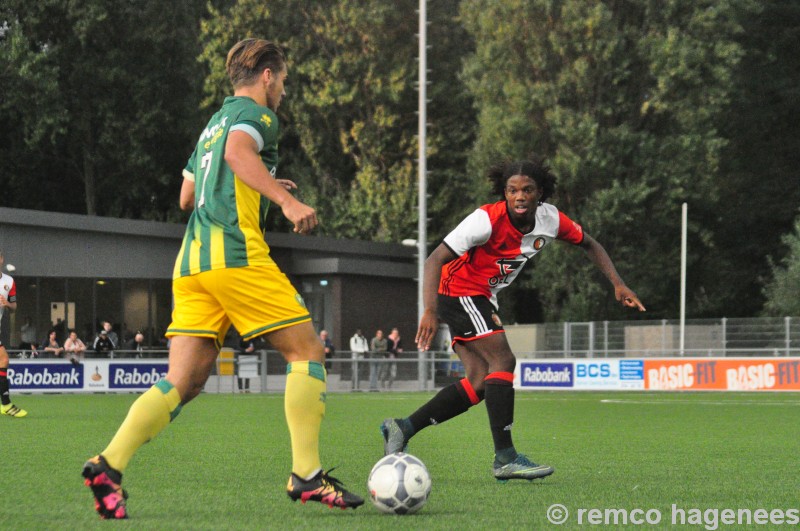
[[[162,221],[247,36],[288,54],[281,176],[326,236],[416,234],[417,0],[6,0],[0,205]],[[647,318],[798,314],[800,4],[428,3],[429,248],[495,201],[487,168],[530,153]],[[274,230],[286,230],[273,209]],[[794,231],[794,232],[793,232]],[[552,246],[507,320],[631,318],[580,252]],[[791,291],[791,290],[794,291]]]

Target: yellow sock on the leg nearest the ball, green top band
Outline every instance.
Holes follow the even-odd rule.
[[[292,439],[292,472],[308,478],[319,461],[319,428],[325,416],[325,366],[316,361],[295,361],[286,366],[284,409]]]

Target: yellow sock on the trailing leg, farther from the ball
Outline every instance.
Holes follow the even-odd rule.
[[[181,410],[181,397],[171,383],[162,379],[136,399],[128,416],[102,455],[109,466],[124,472],[128,462],[144,443],[161,433]]]

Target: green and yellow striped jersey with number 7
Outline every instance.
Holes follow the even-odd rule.
[[[239,180],[225,162],[228,134],[237,130],[253,137],[261,159],[275,175],[278,117],[251,98],[225,98],[183,170],[184,178],[195,183],[194,211],[173,278],[269,261],[269,247],[264,241],[269,200]]]

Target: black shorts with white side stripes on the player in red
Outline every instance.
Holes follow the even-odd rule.
[[[439,319],[450,327],[453,343],[504,332],[503,323],[486,297],[448,297],[440,294],[438,300]]]

